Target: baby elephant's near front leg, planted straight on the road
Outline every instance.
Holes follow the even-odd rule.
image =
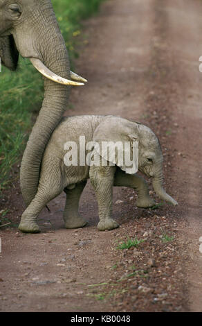
[[[112,230],[118,228],[118,223],[111,218],[112,214],[112,189],[116,166],[91,166],[89,176],[95,189],[98,200],[100,222],[98,230]]]

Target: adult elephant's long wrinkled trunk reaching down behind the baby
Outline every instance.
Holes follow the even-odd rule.
[[[36,17],[37,15],[35,15],[34,19]],[[48,1],[48,6],[43,8],[43,17],[35,25],[37,25],[36,35],[40,35],[40,42],[37,43],[38,58],[55,74],[69,79],[68,53],[55,14],[52,7],[50,8],[50,1]],[[36,55],[31,53],[24,56],[37,58]],[[68,91],[69,87],[66,85],[60,85],[44,78],[44,101],[21,162],[20,185],[26,206],[30,204],[37,193],[44,150],[50,135],[66,110]]]

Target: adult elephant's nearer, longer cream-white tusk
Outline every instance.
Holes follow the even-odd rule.
[[[72,80],[68,80],[65,78],[62,78],[60,76],[57,76],[53,73],[53,71],[50,71],[41,60],[37,58],[30,58],[30,62],[32,62],[33,66],[46,78],[53,80],[55,83],[59,83],[62,85],[72,85],[72,86],[82,86],[84,83],[77,83]]]

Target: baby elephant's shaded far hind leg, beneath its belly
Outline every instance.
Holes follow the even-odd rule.
[[[80,196],[86,185],[86,181],[78,183],[73,189],[65,188],[66,204],[64,207],[64,225],[67,229],[82,228],[87,221],[78,214]]]

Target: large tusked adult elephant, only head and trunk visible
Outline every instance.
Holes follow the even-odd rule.
[[[0,0],[0,56],[17,68],[19,53],[44,76],[44,101],[21,162],[20,185],[26,206],[35,197],[39,168],[50,135],[68,102],[69,87],[86,81],[71,73],[68,52],[50,0]]]

